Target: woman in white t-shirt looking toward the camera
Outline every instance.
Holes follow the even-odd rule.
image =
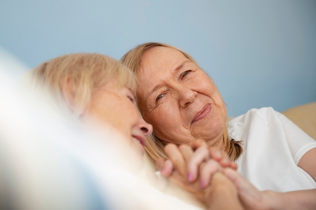
[[[259,190],[291,191],[277,193],[271,207],[316,208],[316,142],[284,115],[252,109],[228,122],[213,80],[190,55],[168,44],[141,44],[121,61],[139,81],[137,103],[154,130],[146,148],[153,159],[166,157],[167,143],[202,138],[236,160],[238,171]]]

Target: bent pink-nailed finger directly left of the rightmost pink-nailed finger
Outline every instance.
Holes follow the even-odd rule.
[[[188,180],[190,182],[196,180],[201,163],[207,161],[208,159],[209,154],[207,148],[200,147],[194,152],[188,162]]]

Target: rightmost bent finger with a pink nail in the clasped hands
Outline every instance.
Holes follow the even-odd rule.
[[[222,166],[214,159],[208,160],[200,167],[200,187],[204,188],[209,185],[212,176],[223,170]]]

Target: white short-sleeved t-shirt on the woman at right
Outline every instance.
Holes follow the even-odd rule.
[[[297,166],[316,141],[271,107],[251,109],[232,119],[229,135],[242,141],[238,171],[259,190],[313,189],[316,182]],[[315,166],[316,167],[316,166]]]

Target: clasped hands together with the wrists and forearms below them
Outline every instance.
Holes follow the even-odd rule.
[[[157,188],[164,190],[166,183],[175,184],[209,209],[231,209],[230,204],[234,209],[270,209],[271,191],[257,190],[219,148],[196,140],[180,146],[168,144],[165,152],[169,159],[156,161],[162,175],[154,184]]]

